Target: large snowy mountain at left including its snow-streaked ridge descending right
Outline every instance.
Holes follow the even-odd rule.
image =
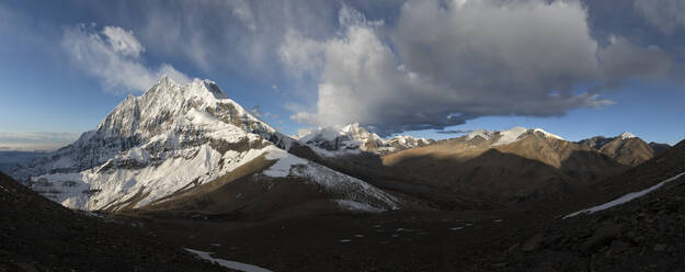
[[[164,77],[141,97],[128,95],[96,129],[13,175],[65,206],[116,211],[189,192],[250,163],[247,174],[297,178],[336,201],[397,207],[391,195],[278,148],[293,143],[215,82]]]

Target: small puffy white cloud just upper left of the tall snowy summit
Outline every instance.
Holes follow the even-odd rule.
[[[104,26],[96,32],[93,27],[80,24],[67,29],[60,45],[76,66],[102,80],[107,90],[142,91],[164,75],[176,82],[191,81],[169,64],[157,69],[147,67],[140,58],[145,47],[132,31]]]

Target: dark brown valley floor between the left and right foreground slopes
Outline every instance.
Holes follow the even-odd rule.
[[[127,218],[186,248],[272,271],[481,270],[472,252],[534,214],[511,212],[392,212],[305,215],[237,223]]]

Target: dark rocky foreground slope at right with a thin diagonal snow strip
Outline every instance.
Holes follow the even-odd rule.
[[[637,192],[683,171],[685,141],[594,189],[623,184],[624,191]],[[473,270],[685,271],[685,175],[623,205],[540,222],[491,243],[492,249],[473,253]]]

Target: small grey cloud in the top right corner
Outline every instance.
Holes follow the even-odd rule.
[[[682,0],[635,0],[635,9],[664,34],[685,29],[685,2]]]

